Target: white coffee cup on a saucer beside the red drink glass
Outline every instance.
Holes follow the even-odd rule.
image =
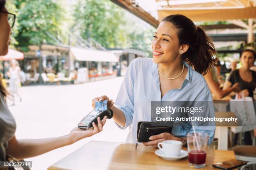
[[[160,147],[162,145],[162,147]],[[159,142],[157,147],[163,151],[166,156],[179,156],[182,149],[182,142],[178,140],[164,140]]]

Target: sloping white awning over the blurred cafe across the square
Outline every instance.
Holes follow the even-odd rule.
[[[78,61],[118,62],[114,53],[100,50],[70,48],[70,55],[74,60]]]

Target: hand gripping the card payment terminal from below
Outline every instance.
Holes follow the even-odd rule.
[[[100,121],[100,117],[97,118],[97,125],[95,124],[95,122],[92,122],[92,126],[93,128],[90,128],[90,129],[87,129],[87,130],[82,130],[82,129],[79,129],[79,128],[74,128],[70,134],[69,134],[69,137],[70,137],[70,140],[71,140],[71,143],[75,143],[77,142],[78,140],[81,140],[83,138],[87,138],[87,137],[90,137],[92,135],[95,135],[96,133],[99,133],[102,131],[102,128],[103,126],[105,125],[105,122],[107,120],[107,116],[105,116],[102,120],[102,122]]]

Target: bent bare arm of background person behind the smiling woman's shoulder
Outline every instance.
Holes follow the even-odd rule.
[[[223,98],[227,95],[229,95],[231,92],[235,91],[235,92],[239,92],[240,88],[239,88],[239,84],[236,83],[234,84],[232,87],[230,88],[226,88],[225,90],[221,90],[220,87],[218,87],[218,85],[214,82],[213,77],[212,77],[212,73],[209,71],[205,76],[205,80],[211,90],[211,92],[217,97],[217,98]],[[230,83],[231,84],[231,83]],[[230,85],[231,86],[231,85]]]

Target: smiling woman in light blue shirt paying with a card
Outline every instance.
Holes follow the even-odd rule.
[[[210,90],[201,75],[209,70],[215,54],[205,32],[184,15],[170,15],[154,32],[151,46],[153,60],[137,58],[130,63],[116,105],[106,95],[92,100],[92,106],[95,101],[109,100],[118,127],[130,127],[128,143],[136,143],[138,122],[156,121],[151,118],[151,101],[210,101],[202,116],[214,117]],[[208,133],[211,143],[215,126],[198,126],[196,130]],[[156,147],[163,140],[184,142],[191,131],[191,126],[176,122],[172,134],[151,136],[144,145]]]

